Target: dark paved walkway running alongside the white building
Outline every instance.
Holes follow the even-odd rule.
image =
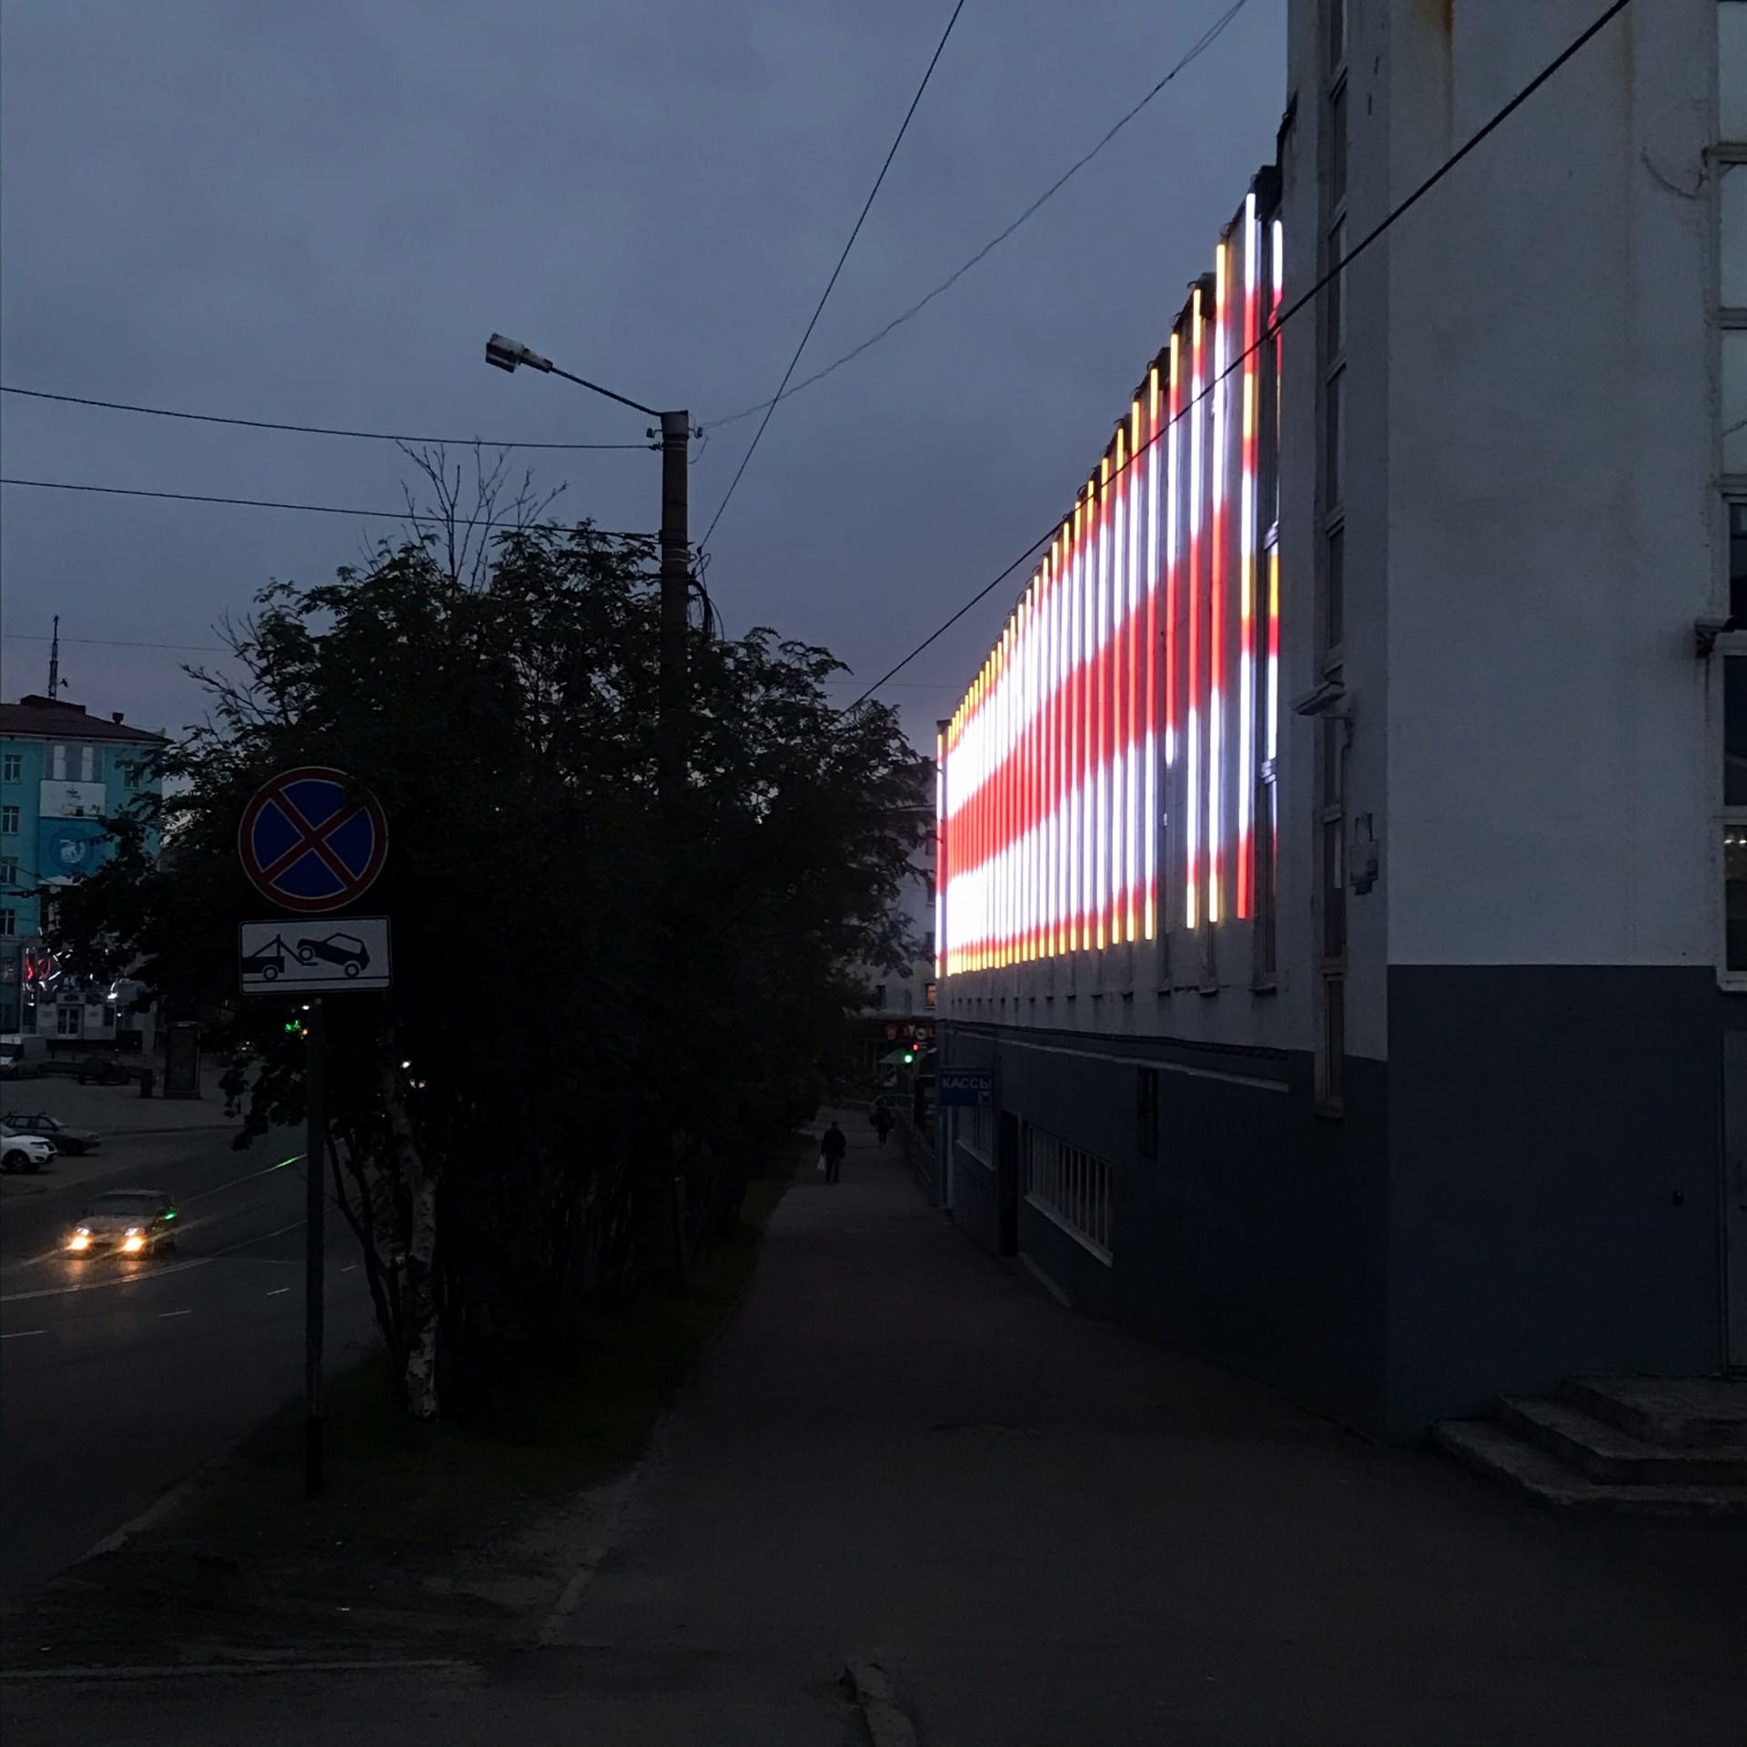
[[[26,1709],[117,1742],[835,1747],[868,1658],[924,1747],[1740,1747],[1747,1534],[1537,1513],[1066,1312],[846,1129],[556,1647],[447,1689]]]

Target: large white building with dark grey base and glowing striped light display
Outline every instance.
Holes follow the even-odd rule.
[[[1295,307],[1599,10],[1295,0],[942,732],[954,1218],[1389,1436],[1747,1366],[1747,0],[1626,7]]]

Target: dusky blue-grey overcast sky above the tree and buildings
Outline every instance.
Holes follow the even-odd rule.
[[[1230,0],[968,0],[797,379],[1005,229]],[[779,383],[950,0],[9,0],[0,381],[451,438],[648,421],[484,362],[501,330],[706,428]],[[1284,103],[1286,0],[1219,40],[915,320],[784,400],[709,542],[728,634],[830,646],[849,702],[1071,503]],[[708,433],[692,538],[756,419]],[[554,514],[655,529],[645,449],[517,451]],[[0,473],[342,508],[404,503],[383,442],[0,397]],[[390,522],[0,491],[0,690],[178,732],[185,662],[269,578]],[[933,748],[1025,573],[880,695]],[[143,645],[175,645],[169,648]]]

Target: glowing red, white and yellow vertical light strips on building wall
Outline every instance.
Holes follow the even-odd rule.
[[[940,975],[1254,908],[1279,730],[1277,187],[1256,178],[940,735]]]

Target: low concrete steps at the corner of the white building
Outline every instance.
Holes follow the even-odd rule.
[[[1433,1441],[1537,1504],[1747,1522],[1744,1377],[1574,1377]]]

